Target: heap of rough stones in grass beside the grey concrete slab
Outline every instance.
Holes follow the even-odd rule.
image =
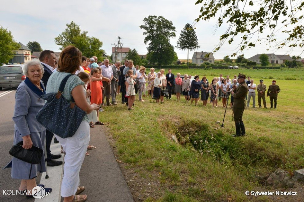
[[[274,189],[278,188],[292,188],[294,181],[288,177],[288,173],[281,168],[275,170],[267,179],[267,184]]]

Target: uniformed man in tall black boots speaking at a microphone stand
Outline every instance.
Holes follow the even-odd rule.
[[[233,137],[245,136],[245,126],[243,123],[243,112],[246,107],[246,95],[248,93],[248,86],[245,83],[246,76],[243,74],[239,74],[237,81],[239,86],[233,87],[232,96],[233,96],[233,119],[235,122],[236,134]]]

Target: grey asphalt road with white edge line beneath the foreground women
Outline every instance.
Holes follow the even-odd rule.
[[[13,144],[14,122],[12,116],[15,105],[15,92],[4,89],[0,91],[0,148],[1,159],[0,168],[4,167],[11,156],[8,151]],[[91,129],[90,144],[96,146],[94,150],[89,150],[90,155],[85,157],[80,171],[80,185],[85,186],[83,194],[88,195],[87,201],[121,201],[131,202],[133,197],[119,170],[112,148],[107,141],[104,133],[105,126],[95,126]],[[60,153],[60,144],[51,145],[53,154]],[[26,199],[21,195],[3,195],[3,190],[16,190],[19,187],[20,180],[11,178],[11,169],[0,170],[0,202],[2,201],[34,201]],[[36,178],[36,182],[53,188],[50,196],[35,201],[63,201],[60,197],[60,182],[63,174],[63,167],[48,167],[49,179],[45,179],[45,173]]]

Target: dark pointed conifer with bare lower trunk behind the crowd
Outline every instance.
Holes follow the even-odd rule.
[[[199,47],[199,42],[193,26],[187,23],[184,29],[181,30],[181,34],[177,41],[177,48],[181,50],[187,49],[187,65],[189,65],[189,50],[192,51]]]

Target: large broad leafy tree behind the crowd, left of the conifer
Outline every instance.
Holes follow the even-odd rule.
[[[171,21],[163,16],[149,15],[143,19],[144,25],[140,29],[144,29],[144,43],[148,44],[147,50],[149,61],[153,64],[160,65],[171,64],[174,60],[174,47],[170,44],[170,38],[175,37],[175,27]],[[166,51],[170,54],[166,55]],[[172,54],[171,54],[172,53]],[[165,55],[164,55],[165,54]]]

